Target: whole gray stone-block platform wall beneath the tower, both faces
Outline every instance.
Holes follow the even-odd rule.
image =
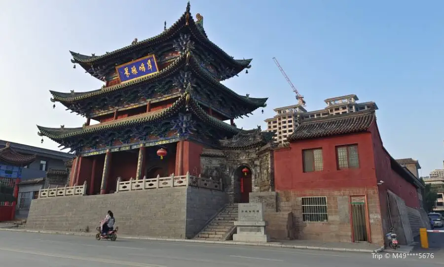
[[[224,192],[192,187],[33,200],[30,229],[96,231],[108,210],[120,234],[190,238],[227,202]]]

